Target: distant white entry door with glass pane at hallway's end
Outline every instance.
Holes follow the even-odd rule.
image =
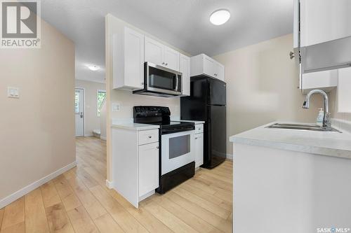
[[[84,89],[76,88],[74,113],[76,115],[76,136],[84,136]]]

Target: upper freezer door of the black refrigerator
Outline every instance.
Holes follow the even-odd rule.
[[[209,105],[225,105],[226,104],[226,84],[216,78],[208,78],[208,99]]]

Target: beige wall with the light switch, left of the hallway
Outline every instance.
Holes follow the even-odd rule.
[[[42,21],[40,49],[0,49],[0,106],[1,200],[76,160],[74,43]]]

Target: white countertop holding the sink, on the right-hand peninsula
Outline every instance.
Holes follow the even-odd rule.
[[[339,129],[343,132],[339,133],[265,128],[274,123],[276,122],[231,136],[230,141],[351,159],[350,132],[343,131],[343,129]]]

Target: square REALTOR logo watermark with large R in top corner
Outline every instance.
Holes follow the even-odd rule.
[[[41,48],[40,1],[0,3],[0,48]]]

